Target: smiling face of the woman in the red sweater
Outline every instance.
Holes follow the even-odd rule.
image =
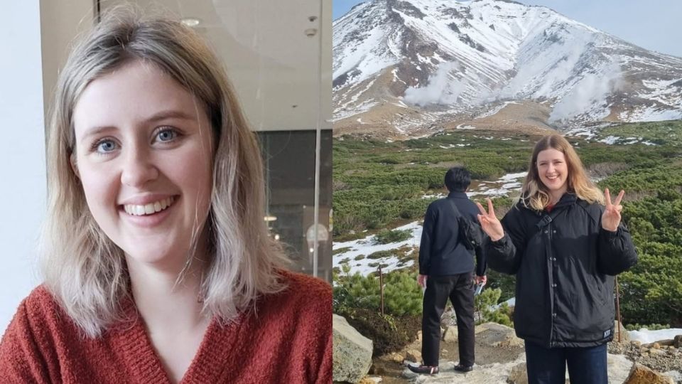
[[[201,103],[139,60],[97,78],[73,112],[87,206],[129,263],[177,269],[210,209],[212,134]]]

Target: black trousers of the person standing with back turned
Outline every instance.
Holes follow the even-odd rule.
[[[445,304],[453,303],[457,316],[460,364],[474,365],[474,287],[472,272],[426,279],[421,320],[421,356],[425,366],[438,366],[440,316]]]

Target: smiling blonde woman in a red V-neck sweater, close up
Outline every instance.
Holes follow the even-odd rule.
[[[330,383],[331,287],[267,233],[259,146],[203,39],[117,9],[60,73],[44,284],[3,383]]]

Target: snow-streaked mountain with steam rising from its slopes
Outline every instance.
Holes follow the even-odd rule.
[[[682,58],[543,6],[371,0],[334,21],[332,44],[337,133],[682,118]]]

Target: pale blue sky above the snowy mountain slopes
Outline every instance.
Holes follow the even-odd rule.
[[[332,0],[332,17],[343,16],[359,0]],[[681,0],[519,0],[547,6],[642,48],[682,58]]]

